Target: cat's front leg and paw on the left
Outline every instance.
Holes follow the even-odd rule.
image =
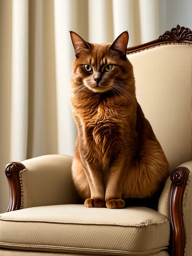
[[[103,173],[99,166],[84,161],[84,170],[88,179],[91,198],[85,200],[86,207],[104,207],[105,205],[105,185]]]

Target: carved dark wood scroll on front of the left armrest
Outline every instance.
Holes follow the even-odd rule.
[[[5,174],[9,182],[10,199],[7,212],[19,210],[21,208],[21,184],[19,172],[26,167],[19,162],[11,162],[5,167]]]

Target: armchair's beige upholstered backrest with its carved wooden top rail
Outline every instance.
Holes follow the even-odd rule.
[[[131,47],[137,101],[152,125],[170,172],[192,159],[192,33],[177,28]]]

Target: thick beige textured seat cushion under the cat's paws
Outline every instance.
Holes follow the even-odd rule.
[[[0,247],[105,255],[152,255],[167,248],[167,217],[146,207],[39,206],[0,215]]]

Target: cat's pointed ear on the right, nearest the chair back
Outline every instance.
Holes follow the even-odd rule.
[[[129,40],[129,34],[127,31],[124,31],[119,35],[116,40],[113,42],[113,44],[110,45],[108,50],[115,50],[118,51],[121,55],[121,57],[126,57],[127,53],[127,44]]]

